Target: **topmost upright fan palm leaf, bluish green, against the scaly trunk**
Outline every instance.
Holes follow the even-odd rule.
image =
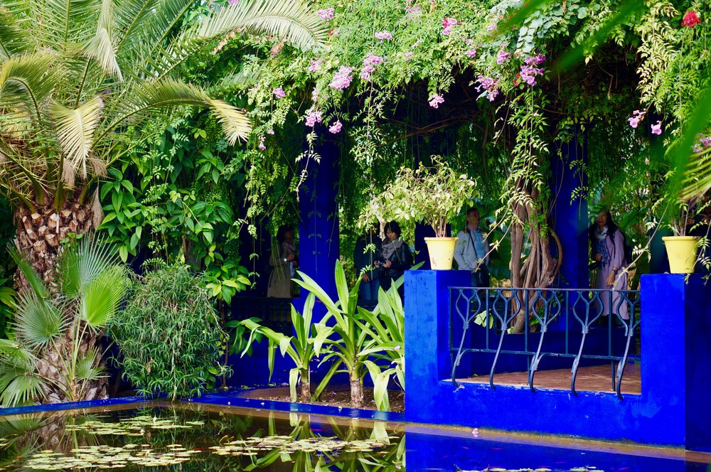
[[[70,300],[78,299],[87,286],[117,262],[112,246],[103,240],[82,238],[77,245],[66,248],[57,261],[56,280],[62,294]]]

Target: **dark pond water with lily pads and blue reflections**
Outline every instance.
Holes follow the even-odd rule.
[[[125,407],[124,407],[125,408]],[[196,404],[0,417],[0,471],[711,471],[673,449]]]

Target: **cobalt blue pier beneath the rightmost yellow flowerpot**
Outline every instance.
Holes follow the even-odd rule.
[[[642,394],[677,407],[659,429],[711,451],[711,286],[700,275],[641,277]]]

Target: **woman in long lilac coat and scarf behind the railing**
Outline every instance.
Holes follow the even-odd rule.
[[[616,313],[627,320],[629,319],[627,303],[619,292],[627,289],[627,273],[622,270],[627,265],[625,241],[621,230],[612,220],[609,210],[602,210],[597,215],[595,222],[589,227],[589,237],[593,260],[590,268],[597,271],[594,277],[594,289],[612,290],[611,297],[608,292],[599,293],[598,309],[602,305],[602,316]]]

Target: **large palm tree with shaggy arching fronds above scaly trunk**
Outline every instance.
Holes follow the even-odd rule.
[[[181,65],[232,32],[299,48],[326,36],[305,0],[242,0],[186,25],[195,0],[0,0],[0,193],[17,242],[48,281],[60,241],[102,219],[95,191],[127,152],[129,125],[181,106],[206,107],[230,144],[240,109],[179,78]]]

